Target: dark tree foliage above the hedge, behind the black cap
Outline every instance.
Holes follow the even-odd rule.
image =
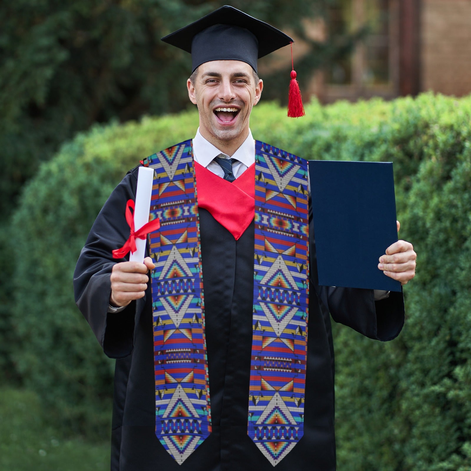
[[[312,72],[349,44],[348,38],[342,47],[320,44],[304,33],[302,20],[322,15],[332,2],[234,0],[232,5],[308,41],[311,51],[300,67]],[[189,55],[160,38],[223,4],[215,0],[1,2],[0,212],[10,213],[12,198],[23,183],[77,131],[94,122],[114,118],[125,122],[186,108]],[[288,82],[289,72],[282,80],[284,89]]]

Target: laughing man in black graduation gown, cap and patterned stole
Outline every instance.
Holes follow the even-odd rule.
[[[291,190],[280,188],[279,194],[272,192],[259,203],[260,195],[253,192],[254,179],[258,191],[266,175],[254,171],[264,158],[299,163],[296,168],[303,165],[290,154],[291,160],[282,161],[286,153],[276,150],[271,156],[271,148],[256,148],[249,129],[252,106],[263,89],[256,73],[257,57],[291,38],[234,8],[222,7],[164,40],[191,50],[193,73],[187,89],[198,107],[200,126],[192,143],[166,151],[165,155],[171,154],[167,160],[159,153],[146,161],[155,169],[153,201],[155,214],[162,218],[160,232],[150,237],[153,258],[116,263],[111,255],[130,232],[124,208],[135,199],[134,169],[98,215],[74,276],[77,305],[106,355],[117,359],[112,469],[261,471],[276,465],[279,470],[332,471],[329,311],[336,321],[368,337],[390,340],[404,322],[402,293],[318,286],[312,227],[309,240],[281,226],[271,230],[273,238],[266,236],[263,252],[257,253],[266,211],[259,204],[265,200],[271,204],[278,198],[286,212],[291,206],[305,210],[297,216],[297,225],[308,222],[307,180],[298,178],[297,199],[288,195]],[[187,156],[187,163],[171,167],[172,159],[184,158],[181,155]],[[191,206],[196,198],[193,171],[185,170],[192,165],[197,218],[191,209],[196,207]],[[172,180],[185,171],[185,178]],[[170,180],[164,181],[167,174]],[[169,188],[174,193],[179,188],[184,191],[175,197],[178,204],[165,206],[162,201],[172,193]],[[246,206],[238,206],[241,201]],[[186,211],[187,203],[191,207],[186,219],[174,216],[179,207]],[[171,208],[168,217],[165,207]],[[270,214],[283,216],[283,211]],[[185,230],[175,235],[179,221]],[[276,239],[280,234],[283,238]],[[308,248],[309,275],[309,262],[302,263]],[[378,256],[378,268],[387,276],[402,284],[414,276],[411,244],[398,241]],[[263,285],[270,274],[279,280]],[[200,288],[204,295],[198,294]],[[268,296],[273,299],[270,304]],[[186,300],[194,302],[187,318],[182,314]],[[309,302],[309,309],[307,305],[301,309],[303,302]],[[267,312],[272,316],[269,322],[263,317],[267,309],[278,309]],[[180,342],[193,347],[185,349]],[[259,355],[264,349],[270,353]],[[188,362],[192,368],[185,368]],[[195,379],[200,371],[207,377]]]

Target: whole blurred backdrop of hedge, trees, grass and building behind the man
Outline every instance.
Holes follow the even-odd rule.
[[[191,138],[190,57],[160,38],[199,0],[0,3],[0,469],[109,469],[114,364],[74,305],[101,205]],[[305,158],[394,162],[418,255],[406,325],[334,325],[339,471],[471,470],[471,1],[235,0],[295,38],[260,60],[254,136]]]

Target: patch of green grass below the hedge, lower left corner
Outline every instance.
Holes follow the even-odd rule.
[[[105,471],[110,444],[62,438],[33,391],[0,389],[0,470]]]

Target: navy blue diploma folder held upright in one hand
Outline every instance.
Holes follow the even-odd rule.
[[[401,291],[378,269],[398,240],[391,162],[309,161],[319,284]]]

